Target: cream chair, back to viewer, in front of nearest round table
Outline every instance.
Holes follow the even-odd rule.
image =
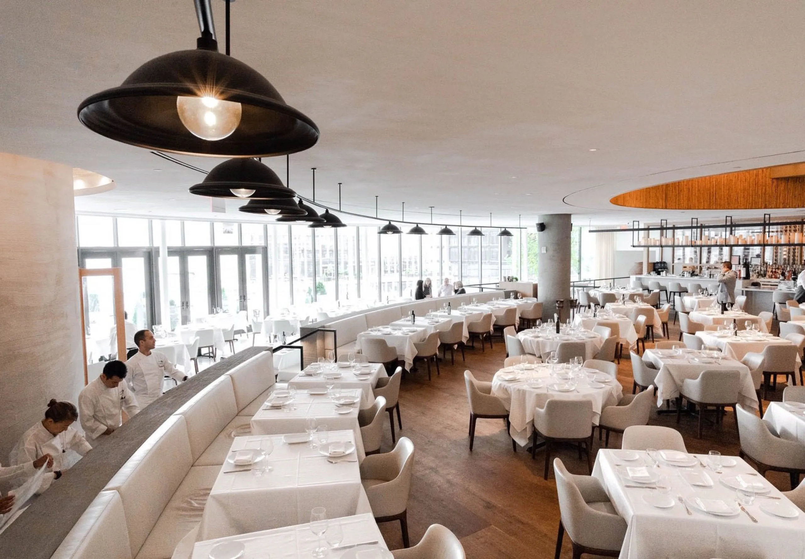
[[[551,466],[553,442],[576,442],[581,451],[587,450],[587,470],[592,473],[592,402],[589,400],[557,400],[551,398],[545,406],[534,410],[534,441],[531,458],[537,454],[537,437],[545,439],[545,479]]]

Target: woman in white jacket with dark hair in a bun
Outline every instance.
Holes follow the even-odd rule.
[[[45,454],[53,456],[53,472],[45,475],[39,491],[50,487],[54,479],[59,479],[69,465],[64,463],[64,453],[75,450],[81,456],[92,450],[84,435],[73,429],[78,419],[78,410],[71,402],[51,400],[47,404],[45,418],[27,430],[19,442],[11,449],[11,466],[31,462]]]

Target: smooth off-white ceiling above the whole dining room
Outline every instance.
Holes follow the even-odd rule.
[[[221,44],[223,6],[213,0]],[[202,175],[76,118],[82,99],[139,64],[195,46],[192,0],[2,12],[0,150],[115,180],[76,199],[79,210],[211,215],[188,194]],[[580,224],[706,217],[609,198],[805,160],[802,2],[237,0],[232,14],[233,55],[321,129],[291,156],[290,186],[310,195],[316,166],[317,198],[336,203],[340,181],[351,211],[374,213],[380,195],[382,216],[398,218],[405,201],[407,218],[427,221],[435,206],[436,220],[462,209],[465,224],[488,224],[489,212],[508,225],[553,212]],[[284,177],[284,158],[266,162]]]

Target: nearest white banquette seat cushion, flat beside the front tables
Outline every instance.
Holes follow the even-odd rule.
[[[181,539],[201,521],[221,466],[194,466],[164,508],[136,559],[169,559]]]

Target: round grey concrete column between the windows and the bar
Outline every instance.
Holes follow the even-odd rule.
[[[570,214],[539,216],[545,231],[538,236],[539,266],[537,285],[539,300],[543,302],[543,320],[553,318],[557,299],[569,299],[570,290]],[[566,306],[562,319],[569,314]]]

